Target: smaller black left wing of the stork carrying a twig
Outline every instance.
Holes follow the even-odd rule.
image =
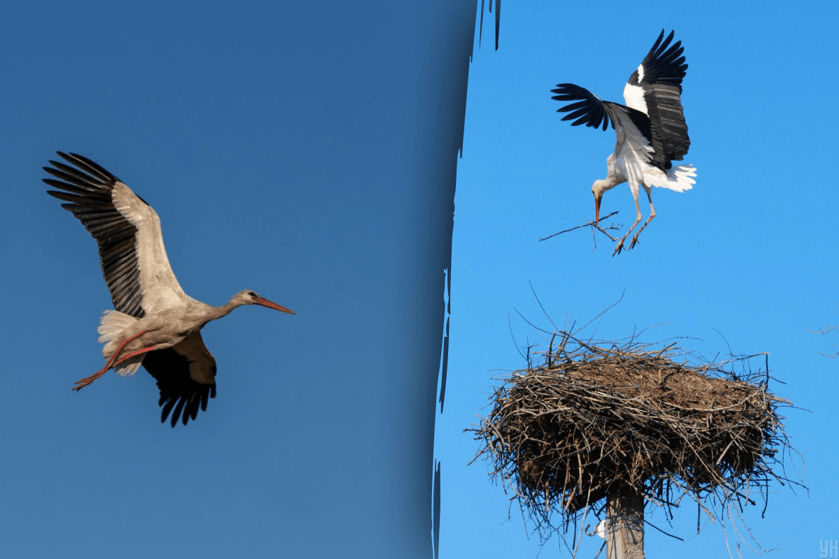
[[[572,127],[585,124],[587,127],[602,127],[606,130],[609,123],[612,124],[612,128],[633,126],[647,139],[647,142],[652,142],[649,118],[641,111],[619,103],[612,103],[612,101],[603,101],[579,85],[557,84],[556,89],[550,92],[557,94],[551,97],[556,101],[575,101],[556,110],[570,113],[562,117],[564,121],[576,119],[571,122]]]

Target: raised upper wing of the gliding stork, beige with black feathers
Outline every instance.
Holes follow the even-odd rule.
[[[44,171],[59,180],[44,179],[44,183],[60,190],[47,194],[68,202],[61,207],[76,215],[96,239],[114,307],[143,318],[189,300],[169,266],[154,209],[90,159],[58,154],[72,166],[50,160],[53,167]]]

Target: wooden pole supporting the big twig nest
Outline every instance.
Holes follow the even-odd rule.
[[[623,485],[606,496],[607,559],[644,559],[644,497]]]

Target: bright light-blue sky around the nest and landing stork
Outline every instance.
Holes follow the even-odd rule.
[[[566,313],[586,322],[625,290],[597,333],[607,339],[666,323],[647,339],[694,336],[704,341],[685,347],[726,352],[712,327],[735,351],[769,351],[786,383],[773,390],[810,410],[785,411],[810,495],[774,484],[766,518],[750,507],[745,519],[778,558],[817,557],[820,540],[839,539],[839,361],[819,355],[839,334],[808,332],[839,322],[837,15],[834,3],[503,4],[500,48],[484,40],[470,68],[458,162],[449,383],[435,437],[440,557],[539,553],[485,464],[466,466],[478,445],[461,432],[487,403],[495,370],[524,365],[508,316],[520,344],[533,332],[513,308],[548,325],[529,282],[558,323]],[[606,176],[615,142],[611,130],[561,122],[550,90],[571,82],[623,103],[623,85],[662,28],[675,28],[690,66],[682,103],[696,186],[654,189],[656,219],[620,256],[599,237],[592,252],[589,230],[539,242],[592,219],[591,183]],[[625,230],[635,213],[625,184],[603,198],[602,213],[614,210]],[[670,530],[660,511],[651,520]],[[648,556],[727,556],[718,525],[695,537],[696,505],[676,511],[672,532],[685,542],[648,528]],[[578,556],[594,556],[601,542],[586,538]],[[556,538],[539,555],[554,556],[569,556]]]

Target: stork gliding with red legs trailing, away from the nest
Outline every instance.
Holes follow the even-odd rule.
[[[234,295],[211,307],[181,289],[163,244],[160,219],[145,200],[117,177],[75,153],[58,152],[72,165],[51,161],[44,167],[55,179],[44,183],[60,190],[48,194],[69,202],[65,210],[81,220],[99,245],[102,274],[116,310],[102,316],[99,342],[107,362],[101,370],[78,380],[74,391],[114,369],[133,375],[142,364],[157,380],[160,421],[172,413],[172,427],[184,425],[206,410],[216,397],[216,360],[201,339],[201,329],[242,305],[262,305],[284,313],[288,308],[253,291]]]

